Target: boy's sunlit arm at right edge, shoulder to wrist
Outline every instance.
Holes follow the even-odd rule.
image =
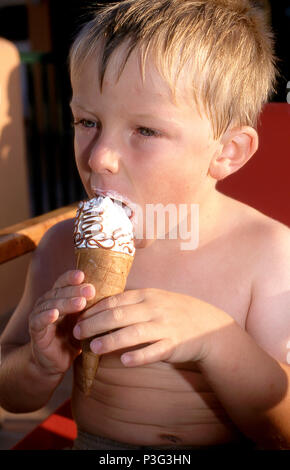
[[[263,251],[246,331],[234,324],[215,337],[201,368],[244,434],[262,447],[290,448],[289,229],[277,224]]]

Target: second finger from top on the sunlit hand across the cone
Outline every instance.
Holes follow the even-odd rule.
[[[84,314],[79,316],[73,330],[77,339],[90,338],[110,330],[149,321],[151,320],[151,310],[144,309],[143,304],[140,303],[115,307],[112,310],[95,313],[89,318],[84,318],[84,316]]]

